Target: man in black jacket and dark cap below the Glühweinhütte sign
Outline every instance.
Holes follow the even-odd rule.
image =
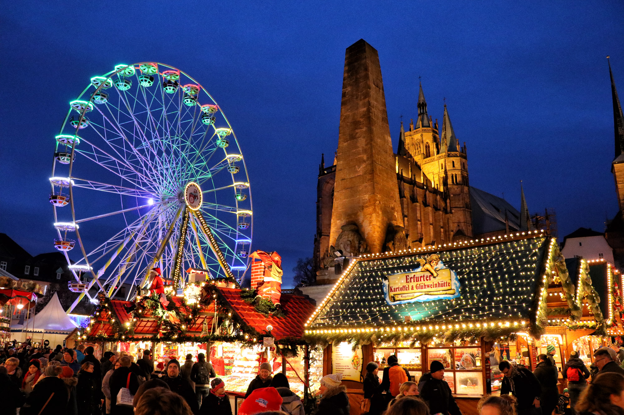
[[[431,362],[429,373],[423,374],[418,381],[418,391],[432,414],[462,415],[449,384],[444,380],[444,365],[440,361]]]

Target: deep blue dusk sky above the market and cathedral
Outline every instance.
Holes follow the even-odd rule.
[[[291,285],[313,253],[321,153],[331,164],[338,143],[344,50],[361,38],[379,52],[395,151],[421,76],[440,122],[446,97],[471,186],[519,208],[523,180],[560,239],[603,231],[618,209],[605,57],[622,94],[621,1],[6,1],[0,16],[0,232],[33,255],[54,250],[48,178],[69,101],[116,64],[154,61],[223,108],[250,175],[253,249],[280,253]]]

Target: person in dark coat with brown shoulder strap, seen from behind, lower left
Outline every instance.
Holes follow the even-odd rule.
[[[49,366],[46,376],[32,389],[26,399],[26,405],[19,413],[21,415],[57,415],[67,412],[69,392],[64,381],[60,378],[61,366]]]

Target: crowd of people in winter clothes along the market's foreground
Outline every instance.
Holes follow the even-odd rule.
[[[553,350],[539,355],[534,371],[501,361],[500,396],[480,399],[480,415],[624,415],[624,348],[595,351],[587,368],[576,351],[561,368],[565,389],[558,393]],[[0,348],[0,399],[3,414],[19,415],[232,415],[225,382],[203,353],[182,364],[165,358],[154,364],[149,350],[134,361],[127,353],[94,348]],[[283,373],[272,375],[261,363],[250,382],[240,415],[305,415],[301,397]],[[379,365],[366,365],[361,415],[462,415],[444,365],[432,361],[418,382],[389,356],[379,378]],[[323,376],[314,415],[349,415],[351,403],[341,374]]]

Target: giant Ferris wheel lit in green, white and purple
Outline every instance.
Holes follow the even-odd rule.
[[[75,291],[130,299],[152,267],[177,288],[189,274],[243,279],[253,234],[245,160],[195,79],[155,62],[117,65],[69,103],[55,138],[54,246]]]

